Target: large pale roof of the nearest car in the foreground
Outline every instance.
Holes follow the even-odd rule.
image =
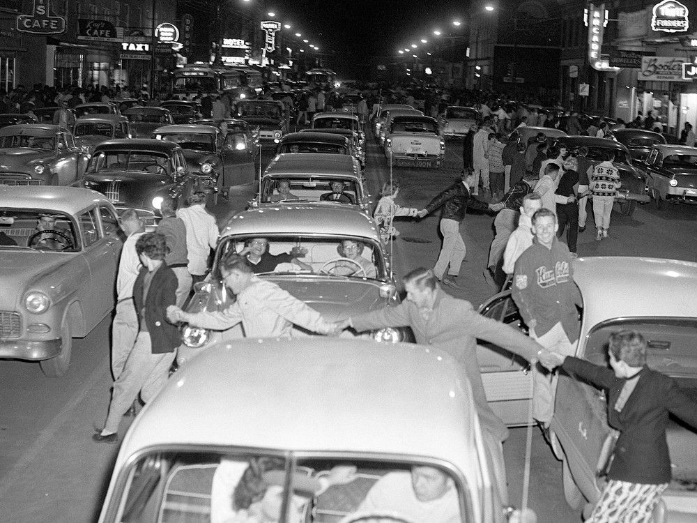
[[[167,444],[234,445],[433,457],[469,476],[476,417],[466,377],[438,349],[236,340],[178,370],[132,423],[120,458]]]

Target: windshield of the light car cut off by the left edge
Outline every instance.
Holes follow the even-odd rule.
[[[0,249],[75,251],[79,250],[76,237],[75,226],[66,214],[0,208]]]

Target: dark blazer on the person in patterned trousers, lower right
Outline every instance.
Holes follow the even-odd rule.
[[[568,357],[562,368],[607,393],[608,423],[620,431],[608,479],[657,485],[671,481],[666,427],[668,414],[697,427],[697,403],[671,377],[649,367],[639,372],[639,381],[622,412],[615,410],[627,381],[606,367]]]

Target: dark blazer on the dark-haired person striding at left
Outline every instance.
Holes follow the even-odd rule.
[[[133,284],[133,301],[139,318],[140,311],[143,309],[143,283],[147,273],[147,268],[141,268]],[[167,307],[176,304],[174,296],[176,287],[174,271],[162,264],[153,275],[145,302],[145,323],[150,332],[153,354],[174,352],[174,349],[179,346],[179,331],[176,326],[167,321]]]

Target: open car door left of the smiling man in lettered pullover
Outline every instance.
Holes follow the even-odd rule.
[[[524,334],[526,326],[510,291],[492,296],[480,306],[482,316],[505,323]],[[528,362],[496,344],[477,340],[477,361],[491,409],[506,425],[528,423],[533,381]]]

